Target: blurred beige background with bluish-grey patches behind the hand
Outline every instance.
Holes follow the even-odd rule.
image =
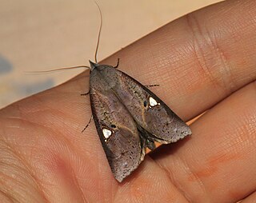
[[[97,0],[103,27],[98,61],[166,23],[221,0]],[[0,108],[49,89],[82,70],[26,71],[88,65],[99,14],[93,0],[0,0]]]

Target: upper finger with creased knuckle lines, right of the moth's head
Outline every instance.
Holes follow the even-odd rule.
[[[188,120],[256,79],[255,1],[225,1],[163,26],[114,54]],[[139,70],[139,71],[138,71]],[[166,91],[168,90],[168,91]]]

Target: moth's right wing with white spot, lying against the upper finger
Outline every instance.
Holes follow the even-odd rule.
[[[112,84],[115,94],[134,120],[150,133],[147,138],[166,144],[191,134],[189,126],[181,118],[134,78],[113,67],[102,71],[111,75],[105,78],[106,82]]]

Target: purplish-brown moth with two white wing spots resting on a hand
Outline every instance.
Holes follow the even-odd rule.
[[[90,62],[90,104],[114,177],[121,182],[154,141],[168,144],[190,128],[155,94],[113,66]]]

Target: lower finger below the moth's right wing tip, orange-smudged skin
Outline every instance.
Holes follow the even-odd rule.
[[[195,121],[178,148],[151,154],[190,201],[236,202],[255,191],[255,103],[253,82]]]

